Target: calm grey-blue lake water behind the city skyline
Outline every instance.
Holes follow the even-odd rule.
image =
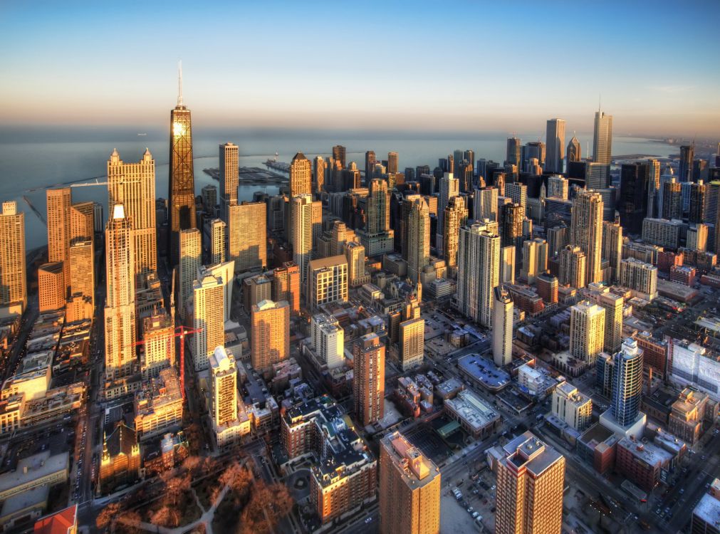
[[[23,197],[45,214],[45,189],[68,181],[99,178],[104,181],[107,159],[114,148],[127,162],[140,160],[145,147],[156,160],[156,196],[168,196],[168,132],[158,129],[138,136],[136,130],[110,129],[0,129],[0,201],[15,200],[25,212],[27,248],[47,243],[47,228],[32,212]],[[456,149],[472,149],[475,158],[502,162],[508,134],[505,132],[477,135],[428,135],[412,132],[317,132],[301,130],[212,130],[195,127],[193,131],[195,193],[203,186],[218,182],[202,172],[217,167],[218,145],[230,141],[240,147],[240,166],[264,167],[268,158],[279,153],[279,160],[289,163],[293,155],[303,152],[307,158],[330,155],[333,145],[347,147],[346,159],[355,161],[359,169],[365,166],[365,151],[374,150],[377,159],[387,159],[387,153],[399,154],[400,171],[405,167],[437,166],[438,158]],[[537,134],[518,137],[523,142],[536,140]],[[570,135],[572,137],[572,135]],[[566,137],[567,140],[570,137]],[[577,134],[586,155],[592,134]],[[613,137],[613,155],[645,154],[667,157],[677,147],[639,137]],[[251,199],[254,191],[274,194],[276,186],[241,186],[240,199]],[[73,188],[73,202],[92,200],[102,202],[107,211],[107,187]]]

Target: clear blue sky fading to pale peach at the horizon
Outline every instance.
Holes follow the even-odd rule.
[[[2,2],[0,123],[720,135],[720,1]]]

